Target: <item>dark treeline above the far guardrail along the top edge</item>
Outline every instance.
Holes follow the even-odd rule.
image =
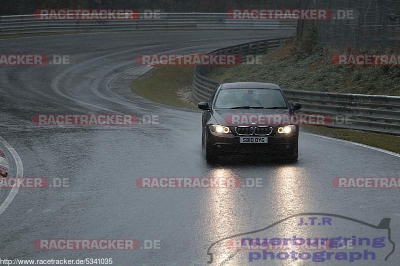
[[[226,12],[230,8],[298,8],[299,0],[1,0],[0,15],[32,14],[39,8],[161,9]]]

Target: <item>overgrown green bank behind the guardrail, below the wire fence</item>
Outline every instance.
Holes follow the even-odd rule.
[[[299,56],[295,51],[297,46],[296,41],[290,39],[262,55],[262,64],[215,66],[208,77],[221,82],[276,83],[285,89],[400,96],[400,67],[397,65],[334,65],[332,56],[343,52],[317,47],[311,54]],[[348,53],[380,54],[377,51]]]

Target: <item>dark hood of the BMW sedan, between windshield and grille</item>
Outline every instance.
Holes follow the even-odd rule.
[[[219,125],[259,125],[277,126],[284,116],[289,115],[288,109],[216,109],[213,117]],[[253,124],[255,123],[255,124]]]

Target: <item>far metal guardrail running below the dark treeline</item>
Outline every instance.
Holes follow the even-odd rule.
[[[92,30],[278,29],[294,30],[296,20],[229,19],[226,13],[158,13],[152,19],[46,20],[32,15],[0,16],[0,34]]]

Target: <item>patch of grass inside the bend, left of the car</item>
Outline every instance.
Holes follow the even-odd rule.
[[[198,110],[185,98],[191,95],[192,66],[156,66],[130,84],[132,91],[153,102]],[[185,97],[186,95],[186,97]]]

